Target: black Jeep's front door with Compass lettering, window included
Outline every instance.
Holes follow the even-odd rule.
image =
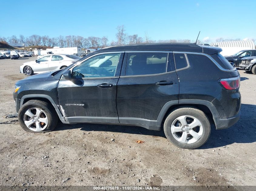
[[[116,90],[124,53],[101,53],[71,68],[60,79],[60,109],[67,121],[119,123]]]

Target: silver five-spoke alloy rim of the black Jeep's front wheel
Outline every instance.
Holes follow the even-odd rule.
[[[48,117],[46,113],[37,107],[28,109],[24,116],[24,123],[28,129],[32,131],[43,131],[48,125]]]

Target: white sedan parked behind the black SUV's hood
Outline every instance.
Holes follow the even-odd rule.
[[[23,63],[20,66],[20,73],[33,75],[63,69],[78,59],[80,59],[78,56],[68,54],[46,55],[35,61]]]

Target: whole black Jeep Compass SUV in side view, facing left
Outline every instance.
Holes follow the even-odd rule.
[[[95,51],[63,70],[15,84],[28,132],[62,123],[141,126],[181,148],[198,148],[240,117],[240,75],[213,46],[136,44]]]

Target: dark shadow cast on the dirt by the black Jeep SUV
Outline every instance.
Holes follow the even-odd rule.
[[[228,129],[216,130],[215,126],[211,127],[211,135],[208,141],[199,149],[217,148],[227,146],[232,143],[253,143],[256,142],[256,126],[253,124],[256,121],[256,105],[241,104],[241,117],[239,121]],[[163,128],[160,131],[148,130],[143,127],[121,126],[121,125],[105,125],[105,124],[63,124],[58,123],[55,131],[67,129],[78,129],[81,131],[104,131],[104,132],[119,132],[138,135],[151,135],[165,137]],[[244,130],[246,129],[246,130]]]

